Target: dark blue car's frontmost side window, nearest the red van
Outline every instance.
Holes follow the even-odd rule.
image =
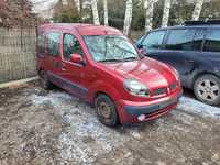
[[[164,35],[166,31],[157,31],[150,33],[142,42],[143,48],[146,50],[158,50],[162,48]]]

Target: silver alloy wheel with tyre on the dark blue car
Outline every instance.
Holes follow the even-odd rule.
[[[202,75],[196,79],[194,85],[196,97],[208,105],[220,103],[220,78],[215,75]]]

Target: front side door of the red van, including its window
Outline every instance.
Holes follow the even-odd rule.
[[[73,95],[86,99],[88,89],[85,87],[86,80],[86,58],[79,40],[73,34],[64,34],[63,36],[63,53],[62,68],[59,76],[63,78],[65,89]],[[81,55],[85,64],[70,62],[70,55]]]

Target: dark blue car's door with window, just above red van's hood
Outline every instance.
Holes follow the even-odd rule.
[[[195,67],[195,35],[196,29],[176,29],[168,32],[162,59],[174,66],[182,77],[190,74]],[[200,47],[198,51],[200,52]]]

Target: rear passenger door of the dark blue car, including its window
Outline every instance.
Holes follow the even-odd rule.
[[[199,59],[205,37],[204,31],[204,29],[186,28],[168,32],[164,61],[179,72],[183,81],[187,80]]]

